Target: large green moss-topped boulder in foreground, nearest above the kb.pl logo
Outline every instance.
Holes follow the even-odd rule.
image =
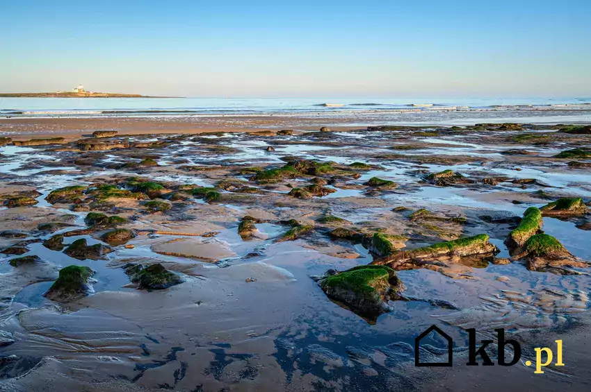
[[[396,272],[387,266],[356,266],[347,271],[327,271],[318,279],[327,296],[348,305],[362,316],[375,318],[389,312],[390,299],[399,299],[405,290]]]

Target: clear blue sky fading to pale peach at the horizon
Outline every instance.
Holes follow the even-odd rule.
[[[591,96],[590,17],[590,0],[0,0],[0,90]]]

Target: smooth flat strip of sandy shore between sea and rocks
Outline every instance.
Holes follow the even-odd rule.
[[[13,139],[32,137],[65,137],[74,139],[95,130],[116,130],[120,134],[204,133],[212,131],[256,132],[259,130],[318,130],[328,126],[332,130],[364,129],[376,125],[452,126],[487,122],[517,123],[591,123],[586,110],[498,110],[474,112],[430,112],[359,114],[293,115],[217,115],[177,117],[50,117],[2,118],[0,135]]]

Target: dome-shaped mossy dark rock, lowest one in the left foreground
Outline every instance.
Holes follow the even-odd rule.
[[[95,274],[87,266],[67,266],[60,269],[58,280],[49,288],[45,297],[54,301],[70,301],[92,293],[91,277]]]

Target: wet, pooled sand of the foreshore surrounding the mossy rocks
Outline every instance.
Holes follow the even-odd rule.
[[[72,391],[588,390],[591,269],[560,275],[530,271],[517,260],[496,261],[510,257],[503,240],[526,208],[560,197],[590,203],[590,167],[569,162],[591,159],[556,157],[588,148],[589,135],[540,125],[331,126],[331,132],[316,132],[314,124],[252,121],[234,130],[296,131],[232,133],[231,121],[229,128],[208,128],[193,119],[0,121],[2,132],[10,124],[20,139],[69,137],[66,144],[0,146],[1,200],[17,194],[35,202],[0,210],[0,250],[7,252],[0,257],[0,331],[7,339],[0,347],[0,390],[42,391],[48,384]],[[109,129],[135,136],[77,141],[91,130]],[[216,134],[189,134],[210,129]],[[152,130],[156,135],[145,135]],[[257,180],[261,170],[293,160],[330,167]],[[355,169],[354,162],[367,166]],[[446,169],[461,173],[462,180],[429,180],[430,173]],[[137,191],[132,176],[161,188]],[[397,186],[368,185],[373,177]],[[326,193],[295,197],[294,188],[311,184],[323,184]],[[83,190],[73,198],[48,198],[72,185]],[[118,189],[118,196],[98,192],[104,185]],[[201,187],[215,188],[219,197],[205,198]],[[168,209],[149,210],[150,201],[160,200]],[[429,213],[414,214],[421,209]],[[96,259],[43,245],[62,234],[64,244],[86,239],[106,246],[102,235],[111,228],[86,223],[89,212],[126,219],[118,227],[136,237],[112,244],[113,252]],[[342,220],[325,220],[329,215]],[[238,233],[245,216],[257,220],[251,237]],[[314,228],[284,240],[291,219]],[[589,231],[583,230],[588,221],[584,214],[544,217],[543,230],[589,260]],[[437,259],[400,269],[408,296],[448,301],[454,308],[390,301],[391,312],[370,320],[327,298],[310,278],[380,257],[371,246],[335,239],[335,228],[382,232],[402,250],[485,233],[500,253],[493,262]],[[24,253],[17,255],[19,248]],[[40,260],[10,264],[33,255]],[[138,289],[124,271],[128,264],[161,264],[183,282]],[[64,302],[45,298],[58,271],[69,265],[96,271],[92,291]],[[458,349],[467,344],[467,328],[478,328],[483,339],[503,326],[526,349],[523,359],[559,336],[567,366],[544,375],[523,364],[467,368],[465,350],[459,350],[454,368],[414,368],[414,337],[434,323]],[[443,347],[437,339],[430,343]]]

